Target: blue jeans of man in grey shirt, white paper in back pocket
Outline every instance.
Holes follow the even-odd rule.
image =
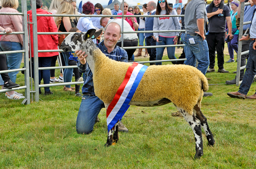
[[[194,38],[195,44],[190,44],[188,40],[190,38]],[[207,41],[205,39],[203,40],[201,36],[188,35],[187,33],[184,34],[182,41],[186,45],[184,47],[187,58],[186,65],[195,66],[197,59],[197,69],[205,75],[210,64]]]

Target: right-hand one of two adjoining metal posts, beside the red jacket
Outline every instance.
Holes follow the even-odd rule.
[[[34,84],[35,101],[39,101],[39,77],[38,77],[38,45],[37,45],[37,19],[36,19],[36,0],[31,0],[32,22],[33,22],[33,48],[34,48]]]

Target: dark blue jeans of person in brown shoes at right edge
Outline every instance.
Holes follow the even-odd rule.
[[[255,40],[250,43],[249,58],[247,59],[244,78],[238,90],[239,93],[244,95],[247,95],[250,90],[253,78],[256,74],[256,50],[252,48],[254,42]]]

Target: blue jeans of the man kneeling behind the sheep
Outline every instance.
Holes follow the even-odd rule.
[[[78,134],[89,134],[92,132],[95,120],[100,110],[104,107],[105,105],[99,97],[83,95],[76,118],[76,132]]]

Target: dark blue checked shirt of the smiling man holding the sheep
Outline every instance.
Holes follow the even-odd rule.
[[[120,61],[120,62],[128,62],[128,55],[127,52],[120,48],[119,46],[116,46],[115,49],[108,53],[107,47],[104,45],[104,41],[98,44],[98,48],[101,50],[102,53],[104,53],[108,58]],[[94,86],[92,81],[92,71],[87,63],[85,65],[82,65],[80,63],[80,60],[77,61],[77,67],[79,72],[85,73],[85,80],[84,85],[82,87],[82,93],[88,93],[91,95],[95,95],[94,93]]]

